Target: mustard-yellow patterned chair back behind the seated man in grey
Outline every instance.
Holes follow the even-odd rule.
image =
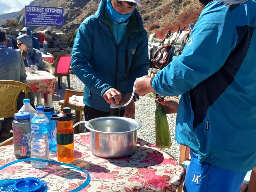
[[[14,117],[14,114],[18,112],[17,101],[22,91],[25,92],[25,98],[28,97],[28,92],[32,92],[25,83],[0,81],[0,118]]]

